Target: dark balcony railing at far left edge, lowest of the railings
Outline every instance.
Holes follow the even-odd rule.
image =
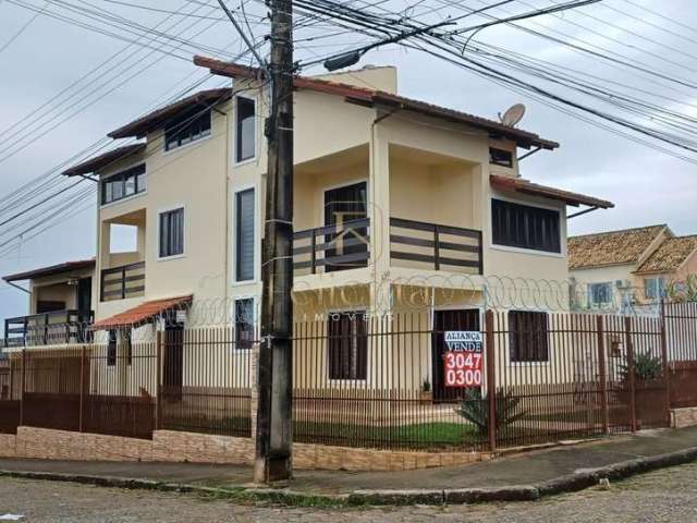
[[[53,311],[4,320],[4,346],[59,345],[91,340],[91,311]]]

